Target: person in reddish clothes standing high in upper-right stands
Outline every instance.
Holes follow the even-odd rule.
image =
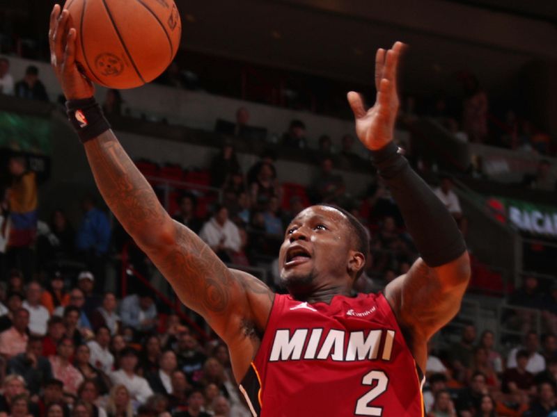
[[[487,138],[487,110],[489,101],[480,88],[478,79],[472,74],[462,76],[464,99],[462,127],[472,142],[483,142]]]

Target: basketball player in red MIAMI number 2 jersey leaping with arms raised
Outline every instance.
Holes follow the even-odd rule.
[[[77,70],[76,32],[55,6],[52,65],[97,186],[118,220],[189,308],[227,343],[253,416],[423,416],[427,340],[457,313],[469,259],[455,221],[393,145],[403,45],[377,51],[377,101],[350,92],[356,133],[391,188],[421,258],[384,293],[350,297],[368,238],[340,208],[317,205],[288,226],[279,254],[289,295],[226,267],[159,204]]]

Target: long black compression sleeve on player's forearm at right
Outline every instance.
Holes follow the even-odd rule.
[[[435,267],[457,259],[466,243],[455,219],[433,191],[390,142],[373,151],[372,161],[389,186],[414,243],[427,265]]]

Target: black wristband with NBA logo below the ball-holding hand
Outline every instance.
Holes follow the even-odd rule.
[[[88,99],[68,100],[65,102],[66,113],[74,126],[81,143],[96,138],[110,129],[95,97]]]

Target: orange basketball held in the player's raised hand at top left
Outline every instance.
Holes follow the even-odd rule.
[[[77,29],[76,60],[91,81],[139,87],[172,62],[182,24],[173,0],[66,0]]]

